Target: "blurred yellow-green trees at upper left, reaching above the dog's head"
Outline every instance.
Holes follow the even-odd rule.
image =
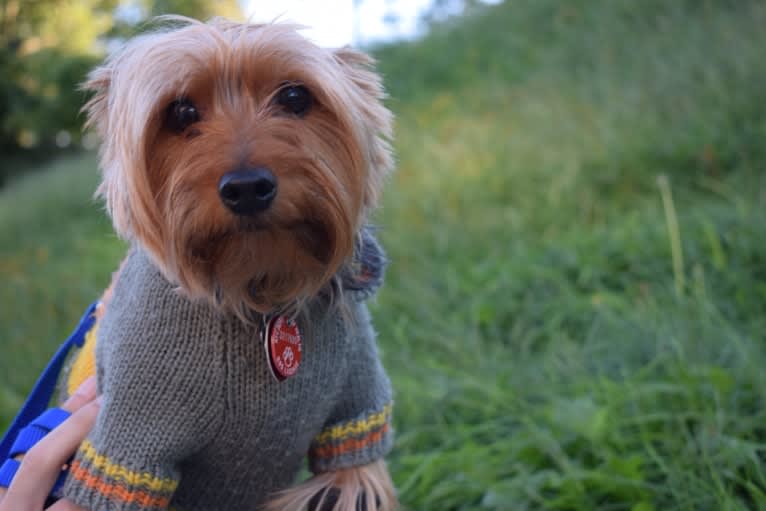
[[[0,0],[0,185],[15,157],[77,144],[89,69],[160,14],[241,18],[236,0]]]

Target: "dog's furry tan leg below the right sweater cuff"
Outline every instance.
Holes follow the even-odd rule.
[[[386,463],[327,472],[278,493],[265,511],[394,511],[396,492]]]

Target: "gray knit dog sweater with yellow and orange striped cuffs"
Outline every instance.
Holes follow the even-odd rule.
[[[298,318],[302,361],[277,381],[248,325],[183,298],[140,250],[98,325],[104,401],[63,495],[93,510],[255,510],[314,472],[391,446],[391,388],[366,306],[320,300]]]

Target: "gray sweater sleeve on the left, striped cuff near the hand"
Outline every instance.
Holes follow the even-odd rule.
[[[118,286],[123,277],[134,275]],[[117,289],[127,296],[115,293],[98,331],[101,410],[62,494],[86,509],[165,510],[181,462],[220,429],[220,340],[203,312],[167,293]]]

